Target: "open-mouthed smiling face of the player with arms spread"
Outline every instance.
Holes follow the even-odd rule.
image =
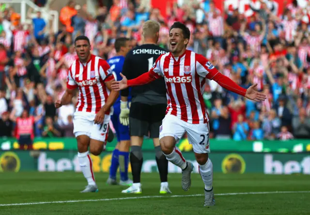
[[[185,39],[182,29],[171,29],[169,33],[169,48],[173,56],[179,57],[186,50],[189,39]]]

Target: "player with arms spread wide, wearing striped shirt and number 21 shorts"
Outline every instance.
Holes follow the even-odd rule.
[[[176,142],[187,132],[204,183],[204,206],[215,205],[213,194],[213,164],[208,157],[209,116],[202,98],[206,79],[216,81],[220,86],[245,96],[250,100],[262,101],[266,96],[257,92],[256,84],[244,89],[230,78],[222,75],[202,55],[186,50],[190,31],[180,22],[170,29],[170,51],[157,58],[153,68],[138,78],[115,81],[112,89],[121,90],[129,86],[144,85],[163,77],[166,82],[168,107],[160,126],[160,146],[166,158],[182,169],[182,188],[191,186],[190,174],[193,164],[186,162]]]

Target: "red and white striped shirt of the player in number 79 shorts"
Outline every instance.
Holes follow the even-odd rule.
[[[100,57],[91,55],[84,65],[76,59],[71,65],[67,88],[78,87],[78,104],[76,111],[93,117],[109,97],[110,91],[105,82],[113,80],[114,76],[108,62]],[[110,114],[110,111],[106,112]]]

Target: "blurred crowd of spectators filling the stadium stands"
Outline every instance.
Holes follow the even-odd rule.
[[[76,58],[74,38],[86,35],[93,54],[108,59],[116,54],[117,37],[130,37],[136,46],[142,42],[142,23],[153,19],[161,24],[160,46],[167,48],[171,24],[184,22],[191,31],[187,49],[206,56],[239,85],[257,83],[268,95],[255,103],[208,81],[203,98],[211,115],[211,138],[310,138],[310,25],[304,21],[308,7],[301,9],[293,1],[277,15],[272,0],[261,0],[261,8],[251,6],[255,13],[245,18],[238,10],[221,12],[213,2],[207,7],[195,2],[171,4],[163,17],[148,0],[113,0],[110,8],[100,7],[93,16],[85,5],[70,0],[60,11],[57,34],[47,29],[40,12],[32,25],[24,24],[13,8],[2,4],[0,136],[15,135],[16,117],[27,115],[33,116],[36,137],[73,136],[75,104],[56,111],[54,100],[64,93],[67,69]],[[204,13],[196,13],[198,9]]]

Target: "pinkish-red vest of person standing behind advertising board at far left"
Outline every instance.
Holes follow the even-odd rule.
[[[34,137],[33,133],[34,117],[30,116],[28,118],[16,118],[16,138],[18,139],[20,135],[30,135],[31,138]]]

